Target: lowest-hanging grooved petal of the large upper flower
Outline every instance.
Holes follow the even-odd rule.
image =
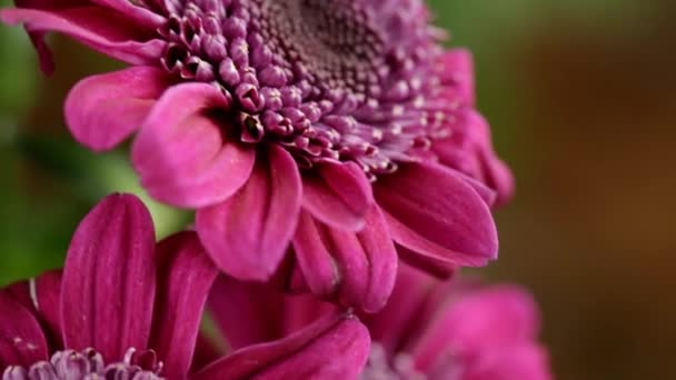
[[[385,306],[397,272],[397,251],[376,206],[359,232],[338,230],[305,214],[294,238],[296,258],[310,290],[345,306],[375,312]]]

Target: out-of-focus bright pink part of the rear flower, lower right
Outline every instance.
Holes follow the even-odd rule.
[[[362,380],[549,380],[537,306],[515,286],[434,283],[402,268],[392,302],[365,322],[374,343]]]

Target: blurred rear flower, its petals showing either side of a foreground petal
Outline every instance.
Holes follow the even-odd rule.
[[[217,280],[212,294],[219,297],[210,297],[209,308],[222,330],[238,338],[236,347],[292,331],[335,308],[309,297],[282,299],[269,287],[223,279]],[[265,302],[232,303],[247,298]],[[235,304],[237,312],[231,312]],[[231,327],[240,320],[260,334],[233,334]],[[404,264],[387,306],[362,320],[372,342],[361,380],[553,378],[547,351],[536,341],[537,306],[515,286],[441,282]]]

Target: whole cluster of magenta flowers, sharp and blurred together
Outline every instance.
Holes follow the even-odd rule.
[[[3,379],[549,378],[527,296],[437,279],[497,258],[514,184],[422,0],[16,3],[46,72],[52,31],[130,64],[74,86],[68,128],[135,136],[195,230],[156,246],[137,198],[101,201],[62,271],[0,291]]]

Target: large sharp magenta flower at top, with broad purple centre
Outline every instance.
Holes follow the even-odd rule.
[[[133,67],[66,102],[78,141],[137,133],[156,199],[197,210],[216,263],[378,310],[397,252],[440,274],[497,254],[489,207],[511,177],[474,109],[470,57],[420,0],[17,0],[42,66],[48,31]]]

